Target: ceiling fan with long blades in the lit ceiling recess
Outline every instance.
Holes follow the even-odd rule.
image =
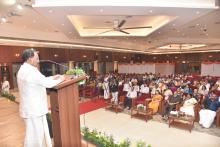
[[[126,20],[122,20],[120,23],[119,23],[119,20],[114,20],[113,23],[114,23],[113,28],[110,28],[110,27],[83,27],[83,29],[109,29],[107,31],[100,32],[100,33],[96,34],[96,36],[97,36],[97,35],[100,35],[100,34],[111,32],[111,31],[118,31],[118,32],[121,32],[121,33],[124,33],[124,34],[130,34],[129,32],[127,32],[125,30],[152,28],[152,26],[123,27],[123,25],[126,23]]]

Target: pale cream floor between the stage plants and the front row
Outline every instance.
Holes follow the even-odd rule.
[[[153,147],[220,147],[220,137],[198,131],[169,128],[166,123],[143,121],[125,113],[105,109],[80,116],[81,125],[113,135],[117,142],[129,138],[133,145],[139,140]]]

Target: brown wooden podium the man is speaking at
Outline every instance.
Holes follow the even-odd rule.
[[[68,78],[50,92],[54,147],[81,147],[78,83]]]

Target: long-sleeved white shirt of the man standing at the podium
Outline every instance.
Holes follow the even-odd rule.
[[[48,113],[46,88],[52,88],[61,81],[61,79],[54,80],[53,77],[45,77],[36,67],[24,63],[17,75],[20,116],[30,118]]]

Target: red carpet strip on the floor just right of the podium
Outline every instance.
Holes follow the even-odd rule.
[[[96,101],[88,101],[79,104],[79,113],[84,114],[90,111],[94,111],[99,108],[106,106],[106,103],[103,99],[97,99]]]

